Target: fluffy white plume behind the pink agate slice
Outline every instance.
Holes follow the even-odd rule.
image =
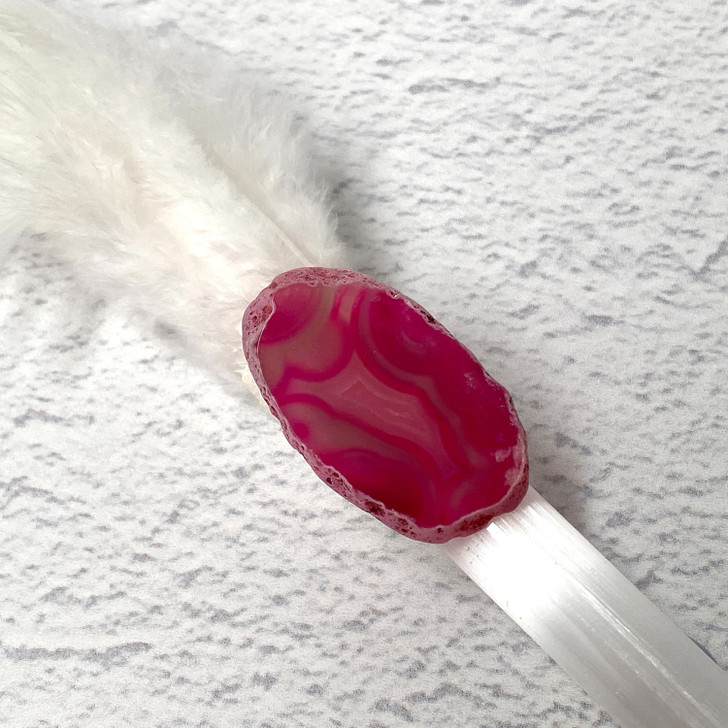
[[[239,383],[246,305],[340,246],[292,115],[144,45],[0,0],[0,248],[42,233]]]

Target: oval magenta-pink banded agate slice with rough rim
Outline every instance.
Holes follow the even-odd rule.
[[[288,271],[245,311],[243,348],[291,445],[395,531],[442,543],[525,495],[508,392],[394,289],[347,270]]]

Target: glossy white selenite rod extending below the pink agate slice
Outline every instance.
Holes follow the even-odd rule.
[[[533,488],[443,548],[622,728],[728,726],[728,673]]]

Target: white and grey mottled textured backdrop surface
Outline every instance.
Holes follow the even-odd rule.
[[[727,668],[728,6],[96,7],[287,93],[359,267],[512,391],[537,489]],[[38,246],[0,321],[5,728],[615,725]]]

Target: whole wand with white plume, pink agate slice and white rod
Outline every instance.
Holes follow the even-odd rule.
[[[226,89],[233,129],[209,78],[138,50],[0,3],[0,227],[132,291],[229,382],[250,383],[247,307],[252,379],[328,485],[444,544],[623,728],[728,726],[728,675],[528,486],[508,393],[422,307],[336,267],[278,107]]]

